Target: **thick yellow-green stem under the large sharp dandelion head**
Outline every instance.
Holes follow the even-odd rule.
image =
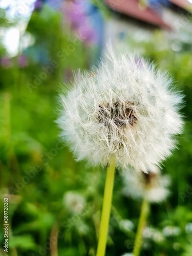
[[[98,241],[96,256],[105,255],[105,249],[106,249],[107,237],[108,237],[109,219],[110,219],[110,213],[111,213],[114,176],[115,176],[115,159],[113,158],[111,159],[111,162],[109,163],[107,168],[101,224],[99,229],[99,241]]]

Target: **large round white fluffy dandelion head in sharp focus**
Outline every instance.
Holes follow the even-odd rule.
[[[170,155],[183,126],[171,82],[144,59],[111,52],[61,95],[61,136],[77,160],[105,166],[115,155],[117,166],[146,172]]]

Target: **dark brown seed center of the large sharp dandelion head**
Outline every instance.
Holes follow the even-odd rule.
[[[134,105],[131,102],[113,101],[99,104],[97,119],[105,126],[115,124],[118,128],[125,125],[134,125],[137,121],[134,115]]]

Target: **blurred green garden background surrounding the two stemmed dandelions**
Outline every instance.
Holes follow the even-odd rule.
[[[62,87],[72,86],[73,70],[98,63],[107,42],[104,24],[125,17],[100,1],[91,5],[99,15],[95,25],[85,22],[83,12],[70,16],[66,6],[58,10],[43,1],[26,1],[29,10],[25,6],[26,12],[19,12],[13,2],[0,9],[0,255],[94,256],[105,169],[76,163],[59,140],[58,95]],[[187,19],[191,26],[189,15]],[[80,22],[83,27],[88,24],[86,31],[79,30]],[[162,163],[163,173],[172,179],[171,195],[164,203],[151,205],[142,255],[191,256],[192,33],[182,25],[177,38],[170,38],[169,31],[134,22],[137,29],[119,34],[118,50],[139,52],[168,70],[173,86],[185,95],[184,132],[178,137],[178,149]],[[140,26],[150,33],[143,36]],[[141,202],[125,197],[122,186],[122,176],[116,172],[106,256],[133,249]],[[8,254],[3,252],[5,197],[9,198]]]

